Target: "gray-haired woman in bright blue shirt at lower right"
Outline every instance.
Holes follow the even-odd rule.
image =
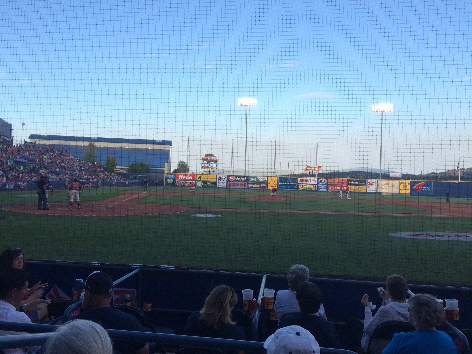
[[[408,320],[414,332],[396,333],[382,354],[458,354],[451,337],[436,330],[444,319],[444,308],[429,294],[408,299]]]

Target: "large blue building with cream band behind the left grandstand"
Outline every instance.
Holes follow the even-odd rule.
[[[146,162],[151,172],[170,172],[170,140],[95,138],[90,136],[37,135],[29,136],[31,143],[48,145],[83,158],[88,143],[95,143],[96,158],[105,164],[110,154],[117,160],[117,168],[126,170],[133,162]]]

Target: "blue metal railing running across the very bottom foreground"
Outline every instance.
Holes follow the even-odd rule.
[[[0,350],[24,348],[29,346],[41,346],[51,337],[55,325],[44,325],[39,323],[17,323],[0,321],[0,330],[11,330],[19,332],[35,332],[32,334],[0,336]],[[247,340],[220,339],[209,337],[180,336],[176,334],[150,333],[106,329],[110,338],[129,340],[134,342],[158,343],[168,346],[193,346],[210,349],[223,349],[246,351],[253,353],[265,353],[262,342]],[[38,333],[42,332],[42,333]],[[355,354],[344,349],[321,348],[321,354]]]

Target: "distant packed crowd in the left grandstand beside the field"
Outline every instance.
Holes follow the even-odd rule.
[[[100,163],[76,158],[65,151],[33,145],[11,145],[0,142],[0,183],[34,182],[39,176],[51,181],[81,182],[127,181],[109,173]]]

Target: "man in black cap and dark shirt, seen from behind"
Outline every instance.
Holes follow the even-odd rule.
[[[132,315],[110,307],[113,297],[113,281],[101,271],[95,271],[85,281],[85,311],[73,317],[92,320],[106,329],[144,332],[139,321]],[[113,349],[118,354],[149,354],[149,345],[144,342],[113,341]]]

